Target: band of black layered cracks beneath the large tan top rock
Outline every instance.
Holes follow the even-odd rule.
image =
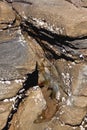
[[[79,48],[70,43],[74,38],[61,36],[44,28],[36,27],[28,21],[23,21],[21,23],[21,28],[39,43],[44,52],[47,53],[47,57],[52,57],[53,59],[64,58],[74,61],[73,56],[75,55],[78,57],[79,55]]]

